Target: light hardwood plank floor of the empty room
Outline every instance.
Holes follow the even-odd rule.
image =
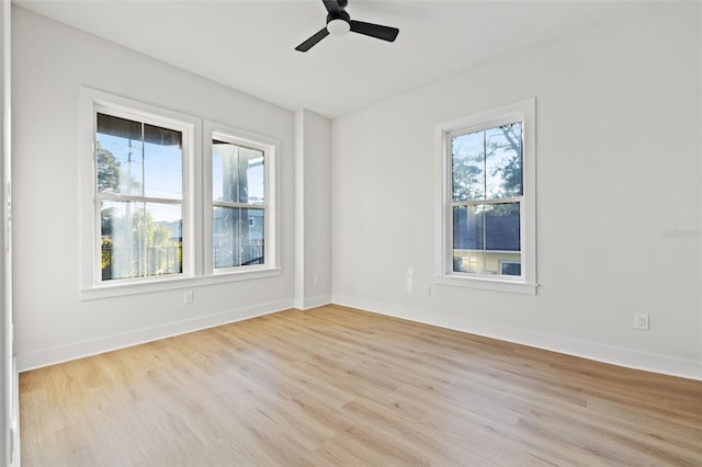
[[[20,385],[23,466],[702,465],[702,381],[337,306]]]

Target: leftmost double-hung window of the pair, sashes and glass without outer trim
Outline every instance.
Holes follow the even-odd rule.
[[[183,140],[188,127],[95,111],[100,282],[183,273]]]

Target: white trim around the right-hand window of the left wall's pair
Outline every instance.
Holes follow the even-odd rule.
[[[280,249],[278,248],[280,239],[280,226],[276,221],[276,206],[278,206],[278,190],[276,190],[276,173],[278,173],[278,153],[280,149],[280,143],[276,139],[269,138],[263,135],[257,135],[244,129],[234,128],[227,125],[223,125],[215,122],[204,122],[204,151],[203,151],[203,169],[207,176],[203,181],[204,191],[204,231],[205,238],[203,239],[204,252],[204,270],[206,275],[212,276],[240,276],[250,273],[263,273],[267,271],[278,271],[280,264]],[[217,138],[233,143],[236,145],[247,146],[263,151],[264,166],[264,242],[263,242],[263,258],[264,264],[252,264],[248,266],[234,266],[223,267],[216,270],[214,267],[214,259],[212,258],[213,249],[213,212],[212,212],[212,140],[217,135]]]

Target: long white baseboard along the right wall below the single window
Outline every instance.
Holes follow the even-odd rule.
[[[450,328],[456,331],[579,356],[627,368],[702,380],[702,362],[680,360],[667,355],[639,352],[632,349],[491,322],[471,322],[469,327],[463,329],[453,328],[451,326],[446,326],[444,322],[440,322],[439,320],[432,320],[431,316],[423,310],[376,300],[367,300],[364,298],[335,295],[332,297],[332,303],[336,305],[377,312],[380,315],[407,319],[424,324]]]

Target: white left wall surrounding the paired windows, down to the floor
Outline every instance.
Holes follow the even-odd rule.
[[[12,13],[14,310],[20,369],[291,307],[293,113],[23,9],[13,8]],[[282,275],[196,287],[192,305],[183,304],[183,292],[178,289],[81,300],[80,86],[279,139]]]

